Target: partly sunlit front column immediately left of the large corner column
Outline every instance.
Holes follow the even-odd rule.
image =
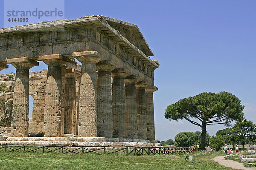
[[[45,59],[48,65],[45,89],[44,131],[45,136],[61,136],[61,59]]]

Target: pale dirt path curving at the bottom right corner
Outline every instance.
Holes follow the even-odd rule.
[[[236,170],[256,170],[256,167],[244,167],[243,163],[239,163],[233,160],[226,160],[224,156],[216,156],[212,160],[218,162],[224,167],[231,167]]]

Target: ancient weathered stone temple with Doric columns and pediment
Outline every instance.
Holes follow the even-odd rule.
[[[100,15],[2,28],[0,70],[16,68],[1,76],[16,106],[10,136],[154,141],[151,56],[136,25]],[[38,61],[48,69],[29,72]]]

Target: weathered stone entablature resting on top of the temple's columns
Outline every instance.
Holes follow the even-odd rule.
[[[76,20],[57,20],[0,30],[0,61],[18,57],[62,54],[70,56],[74,51],[97,51],[102,59],[112,60],[118,68],[125,68],[131,74],[143,77],[153,84],[153,71],[158,65],[149,56],[153,55],[146,41],[142,48],[128,41],[119,31],[108,24],[109,17],[96,15]],[[119,20],[116,20],[119,21]],[[121,21],[119,21],[121,22]],[[137,29],[134,24],[129,29]],[[139,30],[138,30],[139,31]],[[140,32],[140,31],[139,31]],[[144,37],[137,33],[130,37]],[[142,42],[141,42],[142,43]],[[34,58],[35,57],[35,58]]]

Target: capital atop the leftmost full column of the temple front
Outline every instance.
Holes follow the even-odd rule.
[[[16,69],[17,68],[30,69],[33,66],[39,65],[39,63],[37,61],[34,61],[27,57],[7,59],[6,63],[12,64]]]

